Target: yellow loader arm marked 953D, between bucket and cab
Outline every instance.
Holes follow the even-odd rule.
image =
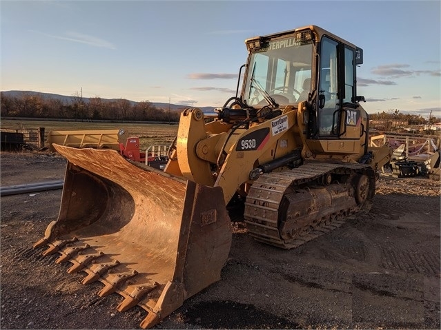
[[[274,161],[277,149],[277,157],[286,156],[293,150],[288,146],[288,141],[292,140],[288,135],[293,134],[291,127],[297,123],[296,110],[248,129],[237,129],[233,134],[213,134],[209,131],[210,123],[205,124],[203,117],[202,111],[197,108],[182,113],[175,162],[179,163],[180,172],[188,180],[221,187],[224,205],[228,204],[240,185],[258,178],[262,172],[259,166]],[[226,129],[230,127],[227,125]],[[216,129],[219,132],[217,126]],[[214,163],[215,160],[218,163]],[[168,167],[172,167],[172,162],[169,161]]]

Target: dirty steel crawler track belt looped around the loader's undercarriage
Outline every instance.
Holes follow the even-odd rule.
[[[308,163],[283,172],[262,174],[251,186],[245,201],[244,218],[248,232],[262,243],[292,249],[340,227],[350,214],[360,212],[362,209],[369,211],[371,200],[366,200],[357,207],[341,210],[339,214],[330,215],[329,218],[321,219],[313,231],[303,232],[297,239],[290,242],[285,242],[279,234],[277,220],[280,203],[286,189],[290,186],[295,187],[312,182],[328,173],[355,174],[357,172],[368,174],[369,187],[375,192],[375,174],[373,169],[366,164]],[[371,195],[373,196],[373,192]]]

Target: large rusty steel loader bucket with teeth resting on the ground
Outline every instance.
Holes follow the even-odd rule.
[[[139,305],[144,329],[220,279],[231,247],[222,188],[198,185],[115,150],[55,145],[68,159],[61,208],[34,247],[99,280],[99,296],[124,297],[117,309]]]

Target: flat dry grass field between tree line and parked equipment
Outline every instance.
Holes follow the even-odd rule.
[[[1,129],[36,129],[44,127],[45,141],[50,130],[115,130],[123,128],[131,136],[139,137],[141,150],[150,145],[170,145],[177,134],[176,124],[155,123],[90,123],[79,121],[2,120]]]

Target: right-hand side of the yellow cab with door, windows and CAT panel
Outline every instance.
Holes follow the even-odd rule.
[[[366,134],[366,112],[356,102],[356,50],[331,37],[323,36],[320,43],[320,63],[317,71],[318,92],[315,135],[320,149],[315,152],[337,151],[358,154]],[[317,143],[314,143],[317,145]],[[343,146],[343,147],[342,147]]]

